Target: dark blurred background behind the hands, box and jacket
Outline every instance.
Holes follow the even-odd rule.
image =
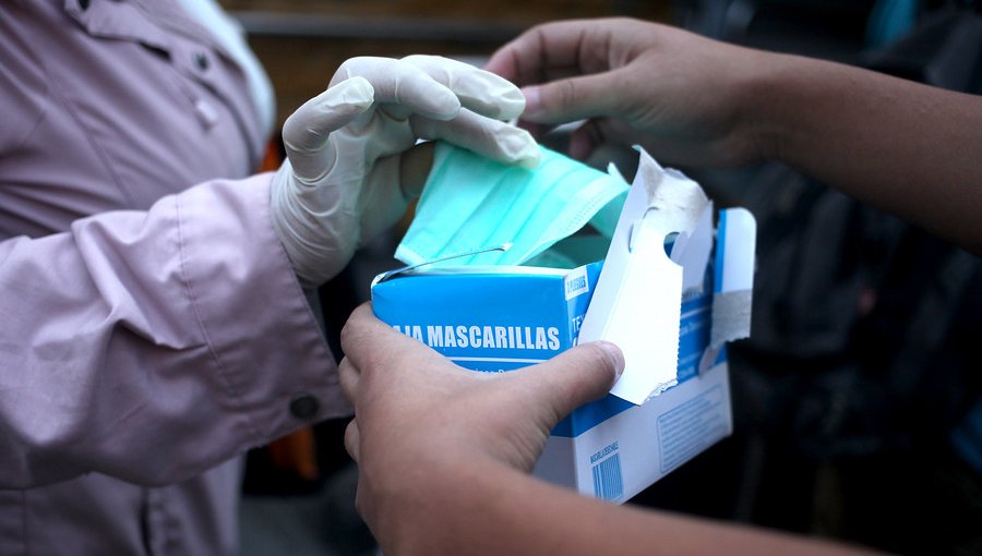
[[[982,20],[971,1],[220,3],[273,81],[280,125],[348,58],[433,53],[479,64],[536,23],[609,15],[982,93]],[[563,136],[549,142],[561,148]],[[600,149],[588,162],[608,160],[633,174],[623,150]],[[718,206],[745,206],[758,220],[753,335],[730,352],[733,436],[630,503],[900,554],[982,554],[982,468],[951,440],[982,433],[982,419],[974,428],[968,419],[973,408],[982,415],[979,259],[791,168],[683,170]],[[399,266],[392,253],[402,231],[363,249],[322,290],[338,356],[337,333],[371,278]],[[354,512],[345,424],[249,455],[244,556],[375,553]],[[975,442],[982,448],[982,436]]]

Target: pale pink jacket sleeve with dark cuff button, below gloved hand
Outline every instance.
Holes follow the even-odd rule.
[[[268,183],[207,182],[0,243],[0,488],[170,484],[349,413]]]

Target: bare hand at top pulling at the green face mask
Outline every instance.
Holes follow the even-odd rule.
[[[640,144],[661,161],[736,166],[759,158],[749,77],[766,52],[630,19],[532,27],[486,69],[524,87],[523,120],[587,120],[571,137],[584,159],[603,143]],[[542,128],[529,126],[541,134]]]

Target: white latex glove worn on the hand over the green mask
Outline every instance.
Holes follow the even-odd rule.
[[[355,250],[394,225],[409,202],[403,153],[443,140],[506,164],[535,167],[539,149],[510,82],[434,56],[352,58],[327,90],[287,119],[288,160],[273,177],[273,226],[300,283],[335,276]]]

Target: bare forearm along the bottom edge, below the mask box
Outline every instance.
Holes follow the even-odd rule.
[[[471,461],[466,468],[426,476],[440,484],[419,491],[432,493],[423,503],[426,509],[414,512],[422,517],[402,523],[397,536],[381,537],[385,554],[861,553],[804,537],[613,506],[493,462]]]

